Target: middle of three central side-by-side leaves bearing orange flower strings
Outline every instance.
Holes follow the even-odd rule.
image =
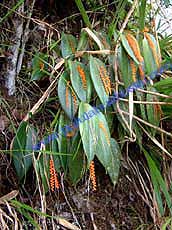
[[[80,62],[69,61],[72,86],[79,99],[89,102],[91,97],[91,81],[86,66]]]

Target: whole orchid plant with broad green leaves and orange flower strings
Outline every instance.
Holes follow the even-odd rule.
[[[91,31],[88,28],[82,30],[79,39],[62,33],[60,46],[56,44],[57,47],[53,47],[59,49],[64,59],[64,70],[57,84],[57,100],[61,108],[51,126],[51,133],[58,134],[46,144],[42,142],[36,151],[31,151],[31,146],[38,142],[37,133],[29,122],[20,125],[11,147],[20,181],[25,178],[33,164],[34,156],[34,167],[39,172],[46,191],[49,190],[48,178],[51,178],[49,161],[51,165],[54,161],[54,170],[63,172],[66,180],[76,185],[97,157],[115,185],[123,146],[119,143],[126,136],[132,139],[135,135],[140,148],[142,145],[143,131],[133,120],[133,114],[139,114],[142,119],[155,126],[159,125],[162,115],[162,112],[158,112],[161,111],[160,106],[157,110],[156,104],[133,104],[133,97],[138,101],[145,100],[145,95],[140,92],[129,92],[128,102],[118,100],[108,105],[114,93],[120,97],[120,91],[125,92],[126,88],[137,81],[149,80],[149,75],[161,66],[159,45],[152,34],[144,32],[141,43],[136,39],[137,35],[130,31],[118,36],[120,44],[115,56],[116,36],[110,40],[104,32]],[[114,70],[115,59],[120,82],[118,87]],[[39,80],[48,73],[49,60],[48,54],[41,52],[34,56],[32,80]],[[156,91],[149,85],[143,87]],[[158,101],[155,95],[148,94],[146,97],[149,101]],[[101,109],[100,104],[104,106]],[[124,113],[119,113],[119,107]],[[74,123],[75,120],[78,122]],[[156,130],[145,127],[155,136]],[[30,152],[29,157],[27,151]]]

